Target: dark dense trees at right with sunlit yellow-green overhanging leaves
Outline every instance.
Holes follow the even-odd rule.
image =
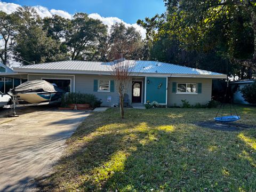
[[[166,13],[138,20],[150,57],[189,67],[255,77],[255,1],[164,0]]]

